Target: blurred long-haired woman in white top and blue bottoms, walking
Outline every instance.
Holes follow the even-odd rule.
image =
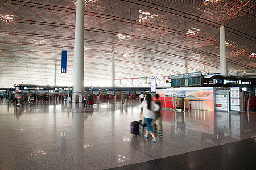
[[[155,114],[153,111],[158,111],[160,107],[152,101],[151,94],[146,94],[145,98],[145,101],[142,101],[142,103],[138,105],[138,108],[143,108],[143,117],[147,125],[147,130],[144,137],[148,138],[148,133],[150,133],[153,137],[152,142],[156,142],[155,134],[150,124],[152,120],[155,118]]]

